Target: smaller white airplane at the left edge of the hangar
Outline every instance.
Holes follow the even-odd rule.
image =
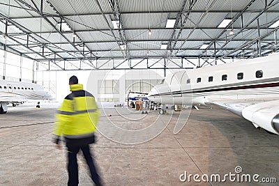
[[[50,92],[38,84],[0,80],[0,114],[6,114],[9,103],[15,106],[24,100],[47,100],[51,97]]]

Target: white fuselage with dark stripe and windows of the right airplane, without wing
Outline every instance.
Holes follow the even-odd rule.
[[[163,104],[205,104],[209,98],[279,97],[279,54],[175,72],[151,89],[148,98]]]

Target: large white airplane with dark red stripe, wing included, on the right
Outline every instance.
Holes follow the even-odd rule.
[[[243,116],[255,127],[279,134],[279,54],[184,70],[151,89],[162,104],[216,104]]]

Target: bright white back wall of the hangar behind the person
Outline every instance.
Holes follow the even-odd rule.
[[[170,72],[169,72],[170,73]],[[148,93],[163,79],[163,70],[66,70],[37,72],[38,83],[49,87],[61,102],[70,93],[68,79],[76,75],[99,102],[126,102],[128,91]]]

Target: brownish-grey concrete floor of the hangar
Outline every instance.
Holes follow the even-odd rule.
[[[57,104],[23,104],[1,114],[0,185],[66,185],[66,148],[52,144]],[[188,118],[188,114],[190,117]],[[110,116],[111,115],[111,116]],[[183,125],[174,134],[174,125]],[[182,124],[181,124],[182,123]],[[98,142],[91,146],[105,185],[278,185],[279,144],[277,135],[253,125],[224,109],[158,111],[141,114],[126,108],[102,111]],[[117,142],[118,141],[118,142]],[[143,142],[145,141],[145,142]],[[142,143],[143,142],[143,143]],[[140,143],[140,144],[138,144]],[[78,155],[80,185],[92,185],[82,155]],[[236,173],[236,166],[242,172]],[[198,174],[182,182],[181,174]],[[202,181],[206,175],[259,174],[277,183]],[[203,177],[202,177],[203,176]],[[235,178],[237,178],[235,176]],[[201,178],[202,177],[202,178]],[[234,177],[232,177],[234,178]],[[241,179],[239,179],[241,181]]]

